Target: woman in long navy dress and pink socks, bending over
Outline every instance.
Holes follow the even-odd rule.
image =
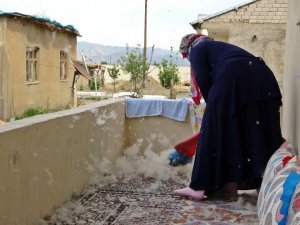
[[[175,194],[201,200],[237,197],[241,184],[258,188],[271,155],[283,143],[281,93],[260,57],[235,45],[188,34],[180,45],[206,101],[189,187]]]

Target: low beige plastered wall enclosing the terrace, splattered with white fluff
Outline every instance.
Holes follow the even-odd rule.
[[[159,151],[192,133],[189,119],[125,119],[124,109],[106,100],[0,126],[0,224],[36,224],[139,138]]]

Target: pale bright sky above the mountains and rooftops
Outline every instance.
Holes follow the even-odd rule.
[[[178,49],[195,30],[199,14],[213,14],[247,0],[147,0],[147,46]],[[19,12],[73,25],[78,41],[109,46],[144,45],[145,0],[0,0],[0,11]]]

